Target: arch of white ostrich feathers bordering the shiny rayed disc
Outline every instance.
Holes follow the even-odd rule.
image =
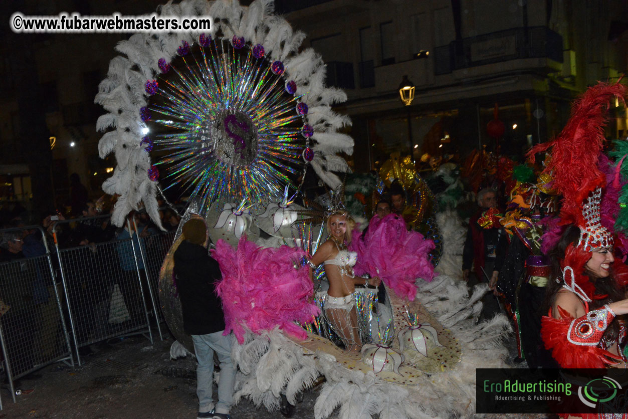
[[[312,115],[308,115],[306,120],[312,121],[310,124],[317,134],[327,135],[320,138],[324,144],[317,144],[318,140],[313,138],[313,148],[317,153],[327,156],[338,151],[351,152],[352,139],[345,134],[335,134],[350,120],[330,109],[331,104],[346,100],[346,95],[339,89],[323,85],[325,67],[321,56],[311,48],[298,52],[305,35],[293,31],[283,17],[271,14],[271,0],[256,0],[249,7],[242,7],[236,0],[183,0],[178,4],[159,6],[158,13],[163,16],[212,16],[214,24],[208,35],[215,35],[220,30],[229,41],[237,35],[253,43],[262,43],[269,58],[284,62],[288,80],[295,80],[300,89],[307,87],[304,93],[311,100],[308,106]],[[114,129],[103,134],[99,155],[106,157],[112,152],[116,155],[116,170],[104,182],[103,188],[121,195],[113,217],[117,226],[124,221],[127,211],[137,207],[141,201],[151,218],[160,225],[156,211],[157,187],[151,185],[148,179],[151,161],[136,154],[146,153],[139,148],[143,137],[141,128],[144,126],[139,121],[139,109],[147,104],[144,84],[147,80],[156,79],[160,73],[158,60],[164,58],[170,63],[176,57],[181,41],[193,45],[198,35],[198,31],[136,34],[129,40],[121,41],[116,50],[122,55],[111,60],[107,78],[99,85],[95,102],[103,106],[107,114],[99,118],[97,129],[101,132]],[[313,164],[313,168],[330,187],[340,184],[339,178],[330,170],[346,170],[346,166],[335,157],[327,161],[320,159]]]

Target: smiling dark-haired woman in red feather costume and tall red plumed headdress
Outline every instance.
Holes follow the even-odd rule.
[[[624,101],[624,96],[619,83],[590,87],[575,102],[558,138],[529,153],[549,153],[544,173],[563,195],[560,218],[568,227],[550,253],[554,280],[548,284],[541,337],[565,368],[626,367],[628,269],[614,259],[613,236],[600,223],[605,176],[597,165],[609,102],[615,97]]]

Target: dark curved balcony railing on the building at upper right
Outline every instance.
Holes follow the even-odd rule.
[[[514,28],[452,41],[434,49],[435,75],[519,58],[563,62],[563,38],[546,26]]]

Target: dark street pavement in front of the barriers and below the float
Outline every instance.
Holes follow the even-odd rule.
[[[154,336],[155,334],[153,334]],[[171,339],[151,345],[138,335],[92,345],[94,354],[80,367],[47,366],[18,380],[21,395],[13,403],[6,384],[0,390],[0,419],[193,419],[197,413],[196,363],[193,357],[170,360]],[[511,351],[512,352],[512,351]],[[215,391],[215,387],[214,387]],[[303,394],[293,418],[313,419],[318,388]],[[279,411],[241,400],[233,419],[284,418]],[[332,418],[338,417],[338,411]],[[486,415],[490,419],[545,418],[544,415]]]

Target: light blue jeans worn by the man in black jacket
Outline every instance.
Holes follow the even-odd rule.
[[[233,403],[234,383],[236,382],[236,368],[231,362],[232,335],[223,336],[220,332],[207,335],[192,335],[194,352],[197,357],[197,396],[198,411],[210,411],[214,400],[212,398],[212,383],[214,381],[214,351],[220,361],[220,380],[218,383],[218,403],[216,413],[229,413]]]

